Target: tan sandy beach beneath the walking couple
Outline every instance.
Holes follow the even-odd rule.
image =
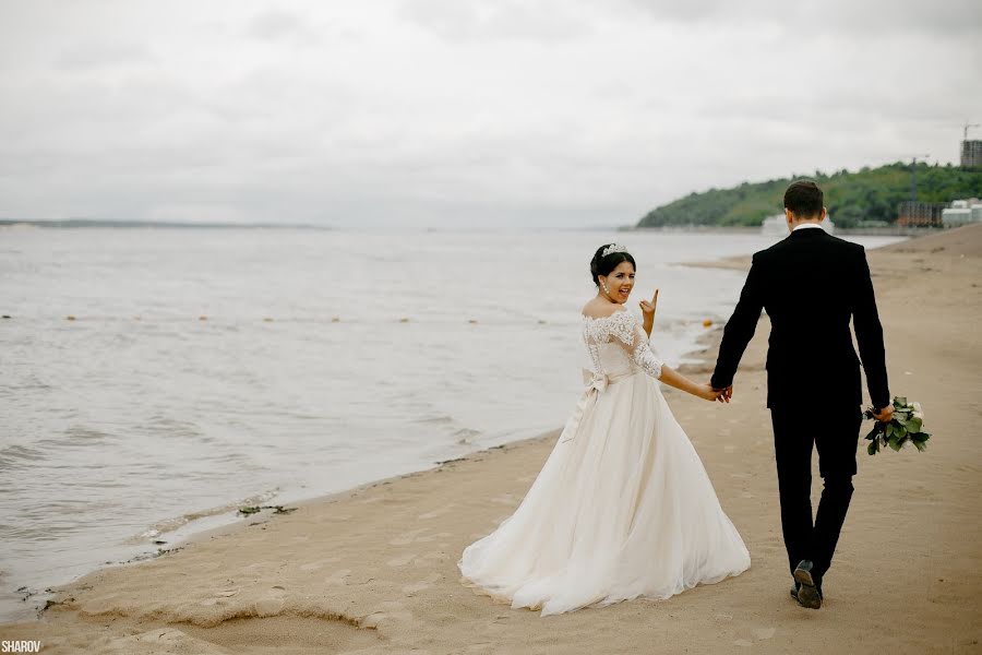
[[[982,226],[871,251],[870,265],[890,391],[922,403],[933,436],[925,453],[859,455],[819,611],[788,595],[765,317],[732,404],[666,391],[751,551],[736,579],[548,618],[462,586],[460,551],[520,502],[555,431],[96,571],[0,640],[52,654],[982,652]],[[704,355],[686,371],[700,380],[715,342]],[[802,403],[821,419],[821,397]]]

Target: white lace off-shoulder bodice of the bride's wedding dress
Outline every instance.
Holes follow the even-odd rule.
[[[583,341],[595,373],[616,374],[640,369],[661,377],[662,360],[648,347],[648,335],[637,317],[618,310],[603,318],[583,317]]]

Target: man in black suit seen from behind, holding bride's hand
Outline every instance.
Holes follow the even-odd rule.
[[[876,418],[894,412],[887,389],[883,327],[861,246],[826,234],[822,189],[801,180],[785,192],[791,236],[754,254],[740,301],[727,322],[712,388],[733,392],[736,366],[754,335],[761,309],[770,317],[767,407],[774,424],[781,528],[794,577],[791,595],[822,607],[822,579],[831,563],[855,475],[862,422],[860,360]],[[825,480],[812,522],[812,445]]]

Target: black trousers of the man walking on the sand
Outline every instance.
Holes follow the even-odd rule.
[[[819,580],[831,565],[833,553],[855,475],[855,449],[862,425],[859,406],[802,410],[773,407],[774,450],[781,498],[781,529],[788,563],[793,572],[803,559],[814,562]],[[812,445],[818,450],[818,471],[825,486],[812,521]]]

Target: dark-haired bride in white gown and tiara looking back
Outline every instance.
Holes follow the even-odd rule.
[[[657,380],[727,401],[666,366],[624,303],[634,258],[614,243],[590,262],[583,308],[588,386],[522,504],[457,562],[462,582],[542,616],[637,597],[668,598],[750,568],[699,456]]]

